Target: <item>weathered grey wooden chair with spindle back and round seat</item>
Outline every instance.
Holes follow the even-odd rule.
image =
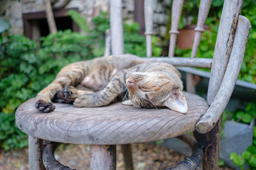
[[[120,55],[124,49],[121,3],[121,0],[110,0],[112,55]],[[211,0],[201,1],[191,58],[174,57],[183,1],[173,1],[169,57],[150,58],[153,34],[152,0],[145,0],[144,6],[149,61],[169,62],[175,66],[211,68],[207,101],[196,94],[185,93],[188,101],[187,114],[167,108],[133,108],[121,103],[100,108],[75,108],[55,103],[55,111],[40,113],[34,106],[35,98],[31,98],[16,111],[18,128],[28,134],[30,168],[45,169],[44,163],[46,169],[70,169],[53,157],[54,149],[57,147],[55,142],[64,142],[90,145],[91,169],[116,169],[116,145],[122,145],[127,169],[133,169],[129,144],[181,136],[181,139],[194,146],[194,152],[190,159],[183,162],[184,164],[178,164],[170,169],[196,169],[202,156],[203,169],[218,169],[222,113],[240,71],[250,21],[239,15],[242,0],[225,1],[213,60],[196,58],[210,3]],[[188,78],[188,81],[191,80]],[[189,83],[187,84],[189,86]],[[184,135],[188,132],[194,132],[199,145],[195,145],[196,140],[193,140],[193,137]]]

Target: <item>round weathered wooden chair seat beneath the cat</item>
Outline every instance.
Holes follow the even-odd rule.
[[[75,108],[55,103],[55,111],[41,113],[35,99],[16,111],[16,125],[28,135],[54,142],[117,145],[176,137],[195,130],[208,104],[203,98],[184,93],[188,113],[168,108],[134,108],[113,103],[100,108]]]

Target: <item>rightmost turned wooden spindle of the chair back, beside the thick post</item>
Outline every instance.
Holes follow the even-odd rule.
[[[206,23],[206,18],[210,10],[210,4],[212,0],[200,1],[199,12],[198,12],[198,21],[195,28],[195,38],[193,41],[193,48],[191,52],[191,58],[196,57],[198,51],[199,43],[201,41],[202,33],[205,31],[203,29],[204,24]]]

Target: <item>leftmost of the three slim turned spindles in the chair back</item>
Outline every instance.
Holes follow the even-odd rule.
[[[145,35],[146,35],[146,57],[152,56],[152,34],[153,34],[153,0],[144,1]]]

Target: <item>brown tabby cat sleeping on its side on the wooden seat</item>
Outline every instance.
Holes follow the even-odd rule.
[[[36,96],[36,108],[53,111],[55,106],[51,101],[73,103],[77,107],[107,106],[126,88],[130,101],[124,104],[188,111],[177,69],[164,62],[146,62],[134,55],[99,57],[63,67],[55,80]]]

